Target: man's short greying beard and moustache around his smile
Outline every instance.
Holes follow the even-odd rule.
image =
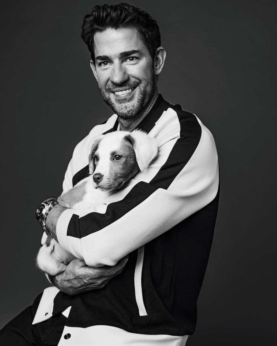
[[[133,89],[136,87],[135,94],[129,98],[113,101],[110,97],[110,91],[117,88]],[[109,83],[104,88],[99,88],[103,100],[108,106],[121,118],[132,118],[152,99],[156,90],[156,80],[154,72],[150,79],[140,81],[138,79],[128,80],[122,84]]]

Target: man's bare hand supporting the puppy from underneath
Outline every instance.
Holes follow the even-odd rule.
[[[66,270],[49,279],[63,293],[73,295],[103,288],[116,275],[123,271],[128,257],[122,258],[115,266],[93,268],[82,260],[73,260]]]

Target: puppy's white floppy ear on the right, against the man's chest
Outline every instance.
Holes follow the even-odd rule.
[[[133,145],[139,169],[144,172],[158,154],[157,140],[141,130],[134,130],[125,138]]]

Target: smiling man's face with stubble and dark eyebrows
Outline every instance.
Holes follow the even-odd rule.
[[[122,118],[131,118],[156,90],[154,64],[136,28],[106,29],[94,35],[92,70],[104,101]]]

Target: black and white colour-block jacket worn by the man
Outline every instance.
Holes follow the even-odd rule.
[[[64,192],[88,175],[91,139],[117,126],[113,115],[76,146]],[[61,246],[89,266],[115,265],[129,254],[103,289],[44,291],[33,324],[62,312],[68,319],[59,345],[176,346],[194,332],[219,198],[214,139],[195,115],[161,95],[137,128],[158,140],[146,171],[104,203],[65,210],[58,220]]]

